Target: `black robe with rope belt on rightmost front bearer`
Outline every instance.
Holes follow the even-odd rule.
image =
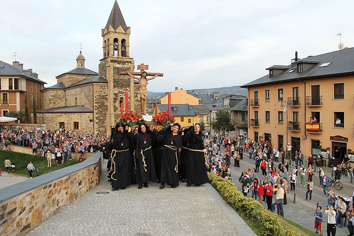
[[[186,138],[189,141],[189,150],[188,150],[188,158],[187,158],[187,166],[188,166],[188,184],[201,185],[208,182],[208,174],[206,173],[206,159],[204,155],[204,134],[199,133],[196,134],[194,129],[190,129]],[[199,151],[192,151],[199,150]]]

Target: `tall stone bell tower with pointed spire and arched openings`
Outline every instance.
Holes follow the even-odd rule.
[[[140,110],[137,91],[139,84],[121,71],[134,71],[134,60],[129,55],[130,27],[127,27],[117,1],[113,5],[107,24],[102,29],[103,58],[99,76],[107,79],[107,133],[120,117],[120,103],[125,110],[124,95],[128,91],[128,110]],[[138,82],[139,83],[139,82]]]

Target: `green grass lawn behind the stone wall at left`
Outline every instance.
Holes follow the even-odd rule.
[[[16,152],[8,152],[8,151],[3,151],[0,150],[0,167],[1,169],[5,172],[6,168],[4,165],[4,161],[6,158],[9,158],[11,163],[15,163],[16,166],[16,171],[15,174],[29,177],[29,173],[27,170],[27,164],[29,161],[32,161],[32,164],[34,167],[38,167],[40,172],[39,174],[46,174],[55,170],[62,169],[67,166],[71,166],[74,164],[77,164],[77,160],[69,160],[66,161],[62,166],[58,165],[58,162],[55,163],[55,165],[52,167],[47,167],[47,158],[41,157],[41,156],[32,156],[28,154],[23,154],[23,153],[16,153]],[[10,173],[12,174],[12,169],[10,168]],[[33,171],[32,176],[36,176],[36,172]]]

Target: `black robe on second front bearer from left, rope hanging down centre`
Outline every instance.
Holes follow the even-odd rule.
[[[156,181],[154,156],[151,147],[152,134],[151,132],[138,133],[134,137],[137,182],[145,183],[148,181]]]

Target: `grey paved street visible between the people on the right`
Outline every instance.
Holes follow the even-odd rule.
[[[276,167],[278,167],[278,162],[276,163]],[[248,168],[255,168],[254,166],[254,160],[249,160],[249,156],[244,154],[243,155],[243,160],[240,161],[240,168],[234,167],[234,160],[232,160],[232,167],[231,167],[231,174],[232,174],[232,179],[233,182],[236,184],[238,189],[240,190],[240,183],[238,182],[238,178],[240,177],[242,170],[243,169],[248,169]],[[305,167],[307,167],[307,161],[305,163]],[[292,167],[289,167],[289,171],[292,170]],[[330,168],[326,168],[325,171],[329,171]],[[330,173],[330,172],[329,172]],[[329,174],[330,175],[330,174]],[[259,179],[264,179],[262,178],[262,172],[259,171],[256,174],[256,178]],[[348,197],[349,195],[352,194],[353,192],[353,186],[350,184],[350,179],[347,177],[342,177],[343,179],[343,185],[344,188],[342,190],[337,191],[335,190],[336,195],[340,195],[343,197]],[[318,173],[314,175],[313,181],[314,181],[314,190],[312,193],[312,200],[311,202],[304,201],[305,199],[305,187],[300,187],[299,182],[300,182],[300,177],[298,176],[296,179],[296,187],[295,187],[295,192],[290,192],[290,184],[289,184],[289,193],[287,195],[287,200],[288,204],[284,206],[284,216],[288,219],[291,219],[311,230],[314,230],[314,212],[316,210],[317,203],[319,203],[320,206],[324,207],[327,205],[327,197],[323,197],[323,188],[319,187],[319,175]],[[307,181],[307,179],[306,179]],[[332,185],[331,187],[334,188]],[[296,204],[293,204],[293,199],[294,199],[294,194],[296,194]],[[248,197],[251,197],[252,194],[249,193]],[[267,208],[267,203],[263,202],[263,206]],[[324,217],[324,224],[323,228],[326,229],[326,224],[327,224],[327,217]],[[347,235],[348,234],[348,229],[346,227],[340,228],[339,226],[337,227],[337,235]]]

